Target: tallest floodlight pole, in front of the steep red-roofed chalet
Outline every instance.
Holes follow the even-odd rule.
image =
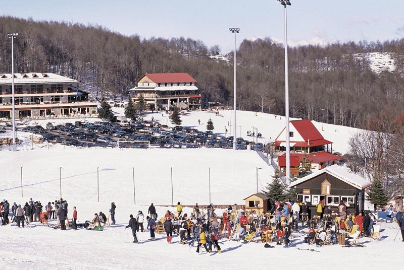
[[[290,179],[290,133],[289,133],[289,81],[288,81],[288,60],[287,60],[287,16],[286,6],[290,6],[289,0],[278,0],[284,7],[284,27],[285,27],[285,123],[286,123],[286,179]]]

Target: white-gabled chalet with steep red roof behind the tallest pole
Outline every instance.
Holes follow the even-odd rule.
[[[300,161],[307,155],[313,169],[323,169],[337,164],[341,157],[332,154],[332,142],[324,139],[311,120],[292,120],[289,125],[290,173],[298,175]],[[285,128],[279,133],[272,150],[278,156],[278,167],[285,174],[286,134]]]

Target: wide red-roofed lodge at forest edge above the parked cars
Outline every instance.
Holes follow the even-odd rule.
[[[133,102],[143,96],[149,110],[168,110],[172,105],[199,109],[200,95],[195,84],[196,80],[187,73],[146,73],[129,93]]]

